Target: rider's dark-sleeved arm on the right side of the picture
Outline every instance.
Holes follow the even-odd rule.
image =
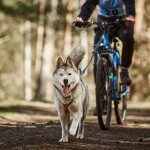
[[[127,16],[134,16],[135,17],[135,0],[123,0]]]

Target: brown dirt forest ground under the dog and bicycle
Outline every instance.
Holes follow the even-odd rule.
[[[53,104],[0,101],[0,150],[149,150],[150,102],[131,103],[122,126],[112,118],[111,128],[99,128],[92,110],[86,118],[85,139],[69,136],[59,143],[61,126]]]

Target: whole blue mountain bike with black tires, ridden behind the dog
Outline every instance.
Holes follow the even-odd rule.
[[[104,31],[93,53],[93,56],[97,58],[96,109],[98,123],[103,130],[107,130],[110,127],[112,101],[114,101],[117,124],[121,125],[126,118],[129,86],[122,84],[119,79],[121,61],[119,51],[117,50],[117,40],[113,37],[112,45],[108,34],[111,29],[121,25],[124,21],[124,19],[117,19],[110,23],[102,22],[101,24],[99,22],[86,21],[80,26],[90,27],[96,25]]]

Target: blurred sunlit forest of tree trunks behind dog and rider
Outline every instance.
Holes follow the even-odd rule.
[[[81,43],[93,50],[93,28],[72,26],[84,0],[0,0],[0,100],[52,101],[55,60]],[[132,101],[150,100],[150,1],[136,0]],[[92,20],[96,20],[96,11]],[[85,75],[95,101],[91,64]]]

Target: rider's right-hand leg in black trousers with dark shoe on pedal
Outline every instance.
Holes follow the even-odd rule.
[[[134,28],[133,26],[124,25],[122,28],[118,30],[118,37],[123,42],[123,50],[122,50],[122,72],[121,72],[121,80],[123,83],[131,84],[131,79],[128,74],[128,68],[132,63],[132,56],[134,51]]]

